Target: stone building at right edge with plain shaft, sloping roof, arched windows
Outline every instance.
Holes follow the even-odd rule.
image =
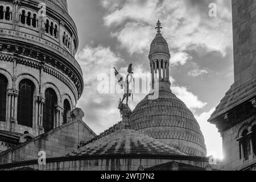
[[[256,170],[256,1],[232,0],[234,84],[208,122],[222,137],[225,170]]]

